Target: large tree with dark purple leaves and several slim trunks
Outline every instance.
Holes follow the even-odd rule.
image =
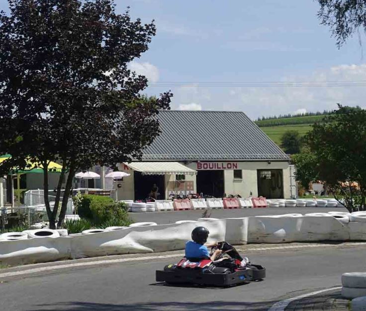
[[[44,171],[44,199],[55,228],[62,180],[68,173],[58,227],[72,180],[93,165],[140,158],[159,134],[154,118],[172,94],[147,99],[144,76],[128,63],[148,49],[154,23],[117,14],[114,0],[8,0],[0,13],[0,167]],[[53,209],[48,200],[49,161],[62,172]],[[29,162],[28,162],[29,163]]]

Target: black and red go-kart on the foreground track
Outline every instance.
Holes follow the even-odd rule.
[[[177,264],[169,264],[164,270],[157,270],[156,281],[226,287],[266,277],[266,268],[250,262],[243,263],[242,256],[229,243],[219,242],[218,247],[211,249],[211,254],[215,249],[222,250],[215,261],[184,257]],[[222,254],[227,254],[230,258]]]

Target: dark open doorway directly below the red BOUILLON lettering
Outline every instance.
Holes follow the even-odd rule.
[[[197,192],[214,197],[224,196],[224,171],[197,171]]]

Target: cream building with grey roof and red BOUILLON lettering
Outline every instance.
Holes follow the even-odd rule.
[[[290,159],[243,112],[160,111],[161,134],[142,162],[121,163],[118,198],[144,199],[153,185],[160,199],[175,194],[214,197],[296,197]]]

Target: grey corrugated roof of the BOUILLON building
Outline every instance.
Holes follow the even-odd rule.
[[[177,111],[158,114],[162,133],[142,160],[287,160],[245,113]]]

